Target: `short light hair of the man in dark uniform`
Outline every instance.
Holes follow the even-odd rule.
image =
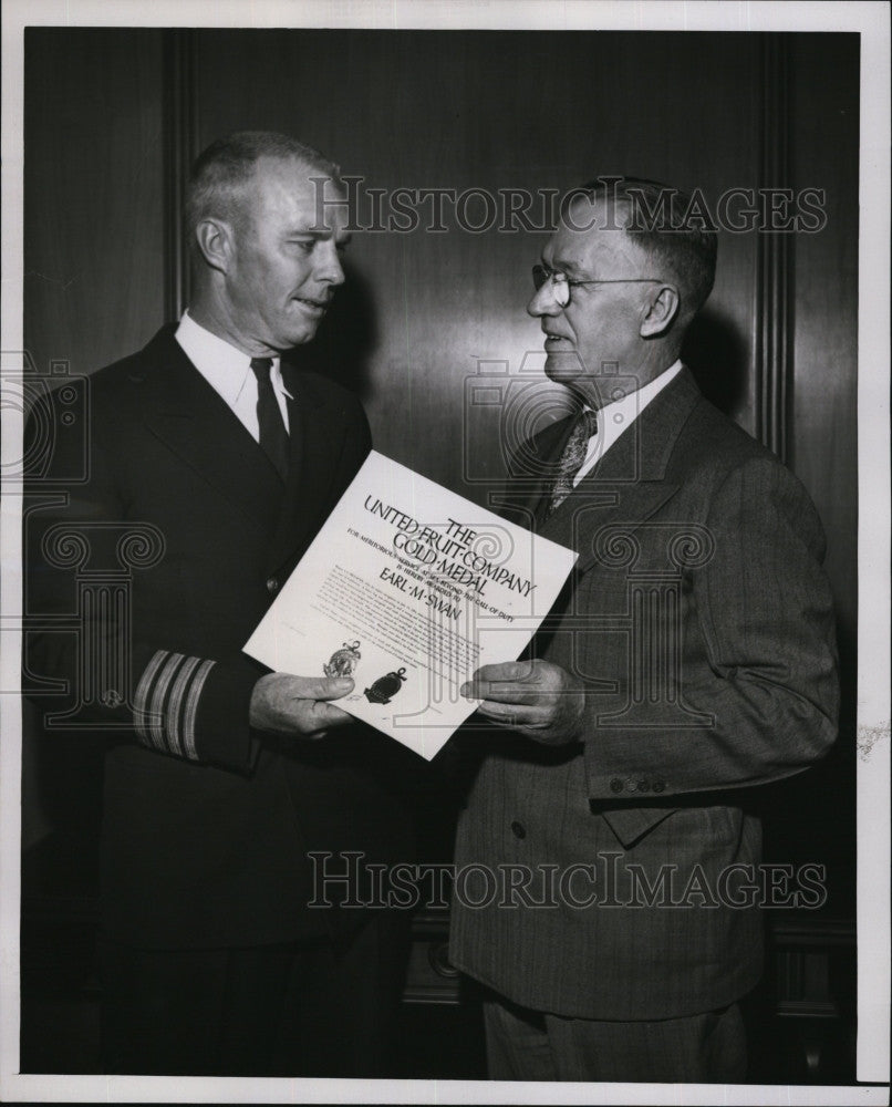
[[[293,159],[335,179],[341,172],[318,149],[274,131],[237,131],[217,138],[195,159],[186,186],[185,231],[190,246],[198,224],[208,216],[240,221],[239,201],[261,157]]]

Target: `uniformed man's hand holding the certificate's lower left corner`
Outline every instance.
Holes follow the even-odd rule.
[[[251,694],[251,726],[259,731],[321,738],[334,726],[353,720],[345,711],[326,703],[353,691],[349,677],[292,676],[269,673],[255,684]]]

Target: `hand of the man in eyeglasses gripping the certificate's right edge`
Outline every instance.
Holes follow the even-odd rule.
[[[549,661],[484,665],[461,695],[483,700],[481,715],[537,742],[560,745],[579,737],[585,696],[582,682]]]

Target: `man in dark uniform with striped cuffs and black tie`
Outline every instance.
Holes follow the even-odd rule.
[[[69,689],[68,714],[43,703],[51,731],[114,737],[107,1072],[370,1076],[385,1055],[400,922],[311,910],[308,853],[406,856],[397,754],[346,725],[332,701],[353,684],[323,679],[326,659],[295,676],[241,652],[370,448],[357,400],[289,356],[344,280],[339,187],[332,163],[283,135],[205,151],[187,195],[188,311],[90,379],[86,478],[71,476],[81,446],[62,421],[31,487],[29,669]],[[126,598],[90,607],[85,562],[68,555],[83,550],[95,578],[131,539],[144,548]],[[53,632],[73,610],[80,637]]]

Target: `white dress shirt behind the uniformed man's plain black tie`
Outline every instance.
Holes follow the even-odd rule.
[[[251,369],[251,359],[248,354],[237,350],[225,339],[211,334],[200,323],[196,323],[188,311],[184,311],[175,337],[201,376],[242,422],[255,442],[260,442],[260,423],[257,418],[257,377]],[[279,411],[282,413],[286,431],[288,431],[290,427],[287,401],[294,397],[284,386],[282,366],[278,358],[272,359],[270,380],[279,403]]]

